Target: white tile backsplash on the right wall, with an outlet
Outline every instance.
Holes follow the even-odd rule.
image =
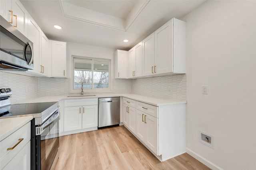
[[[169,87],[172,86],[172,92]],[[132,80],[132,94],[155,98],[186,100],[186,74]]]

